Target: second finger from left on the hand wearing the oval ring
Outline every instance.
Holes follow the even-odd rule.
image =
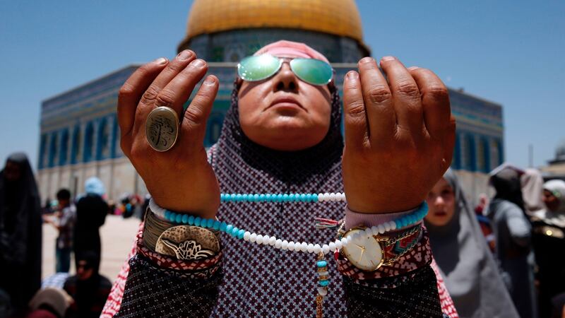
[[[155,78],[155,81],[151,83],[149,88],[145,90],[143,97],[141,98],[140,105],[138,107],[138,115],[141,115],[141,119],[145,119],[147,114],[158,106],[167,106],[173,107],[174,105],[170,105],[168,100],[157,100],[157,96],[159,95],[160,91],[167,86],[167,84],[177,76],[187,65],[196,59],[196,54],[189,49],[185,49],[184,51],[180,52],[177,57],[175,57],[172,61],[167,64],[167,67],[161,71],[161,73]],[[161,104],[162,103],[162,104]],[[180,114],[180,110],[178,114]]]

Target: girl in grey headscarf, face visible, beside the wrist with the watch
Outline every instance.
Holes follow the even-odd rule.
[[[518,317],[475,213],[450,169],[429,192],[434,259],[460,317]]]

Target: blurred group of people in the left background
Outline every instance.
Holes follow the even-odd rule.
[[[42,207],[28,158],[14,153],[0,172],[0,317],[100,317],[112,283],[102,276],[100,227],[107,214],[141,216],[145,199],[107,202],[96,177],[85,193],[60,189]],[[42,273],[42,224],[53,226],[55,272]],[[71,275],[74,259],[74,275]]]

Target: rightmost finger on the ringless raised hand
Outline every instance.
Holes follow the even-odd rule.
[[[441,139],[451,117],[447,87],[429,69],[411,67],[410,74],[420,88],[426,129],[432,137]]]

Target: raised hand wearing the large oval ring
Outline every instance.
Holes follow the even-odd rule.
[[[208,164],[203,139],[218,78],[208,76],[186,112],[183,105],[208,70],[189,50],[172,61],[157,59],[137,69],[119,90],[121,149],[143,178],[155,203],[172,211],[213,218],[220,206],[218,180]],[[159,106],[179,118],[177,142],[168,151],[151,148],[145,122]]]

